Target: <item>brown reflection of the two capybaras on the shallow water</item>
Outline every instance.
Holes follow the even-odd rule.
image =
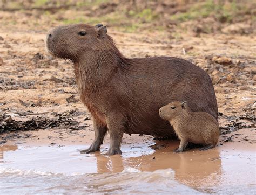
[[[127,167],[137,168],[140,171],[171,168],[176,172],[176,180],[187,185],[193,187],[219,185],[221,158],[217,148],[206,151],[194,149],[176,154],[172,151],[177,148],[178,142],[161,141],[157,145],[164,145],[164,147],[156,151],[148,149],[147,152],[144,151],[141,156],[137,157],[131,157],[132,154],[125,150],[122,156],[105,156],[98,152],[95,154],[97,172],[116,173]]]

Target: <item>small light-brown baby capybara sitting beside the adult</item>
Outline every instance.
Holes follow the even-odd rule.
[[[182,152],[188,142],[205,146],[199,150],[211,149],[218,143],[218,121],[206,112],[192,112],[186,101],[176,101],[161,107],[159,115],[170,122],[180,139],[176,152]]]

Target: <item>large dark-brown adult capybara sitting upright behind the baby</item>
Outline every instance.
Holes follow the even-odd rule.
[[[203,69],[172,57],[125,58],[102,24],[58,26],[46,38],[50,53],[74,64],[80,99],[92,115],[98,151],[107,130],[110,155],[121,154],[123,133],[158,137],[175,135],[160,118],[160,107],[188,101],[193,111],[218,119],[212,81]]]

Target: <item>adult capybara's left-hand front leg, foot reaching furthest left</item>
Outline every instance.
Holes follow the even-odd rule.
[[[100,145],[103,144],[104,137],[106,135],[107,127],[100,125],[97,121],[93,120],[95,139],[91,146],[86,150],[81,150],[80,153],[91,153],[99,151]]]

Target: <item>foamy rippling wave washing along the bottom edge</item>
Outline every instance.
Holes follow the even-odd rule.
[[[5,168],[0,179],[1,193],[198,193],[176,182],[171,169],[146,172],[126,168],[120,173],[69,176]]]

